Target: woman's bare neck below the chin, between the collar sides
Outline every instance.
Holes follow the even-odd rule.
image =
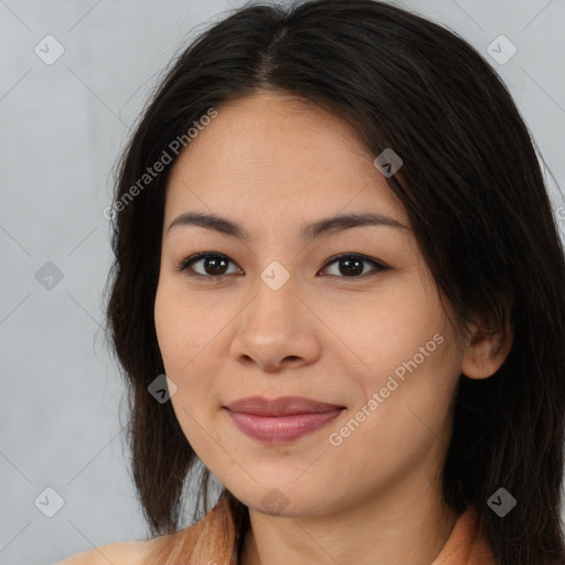
[[[249,508],[239,564],[429,565],[458,518],[414,477],[331,514],[287,518]]]

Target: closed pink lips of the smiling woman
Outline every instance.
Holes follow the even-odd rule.
[[[238,429],[267,444],[286,444],[298,439],[323,427],[343,408],[299,396],[274,399],[249,396],[225,406]]]

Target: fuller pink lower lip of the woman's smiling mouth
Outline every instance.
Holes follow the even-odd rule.
[[[265,444],[287,444],[326,426],[342,409],[335,408],[329,412],[294,414],[289,416],[257,416],[230,409],[226,409],[226,412],[237,428],[249,437]]]

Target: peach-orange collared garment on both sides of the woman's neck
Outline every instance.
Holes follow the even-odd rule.
[[[237,565],[236,531],[227,501],[223,497],[202,520],[182,533],[190,533],[188,537],[183,535],[182,547],[174,552],[182,557],[174,558],[171,555],[174,561],[161,563]],[[430,565],[497,565],[489,543],[480,535],[478,513],[473,508],[468,508],[459,516],[449,539]]]

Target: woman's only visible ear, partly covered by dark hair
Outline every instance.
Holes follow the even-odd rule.
[[[510,353],[513,338],[509,324],[494,329],[476,326],[463,350],[461,373],[469,379],[488,379],[493,375]]]

